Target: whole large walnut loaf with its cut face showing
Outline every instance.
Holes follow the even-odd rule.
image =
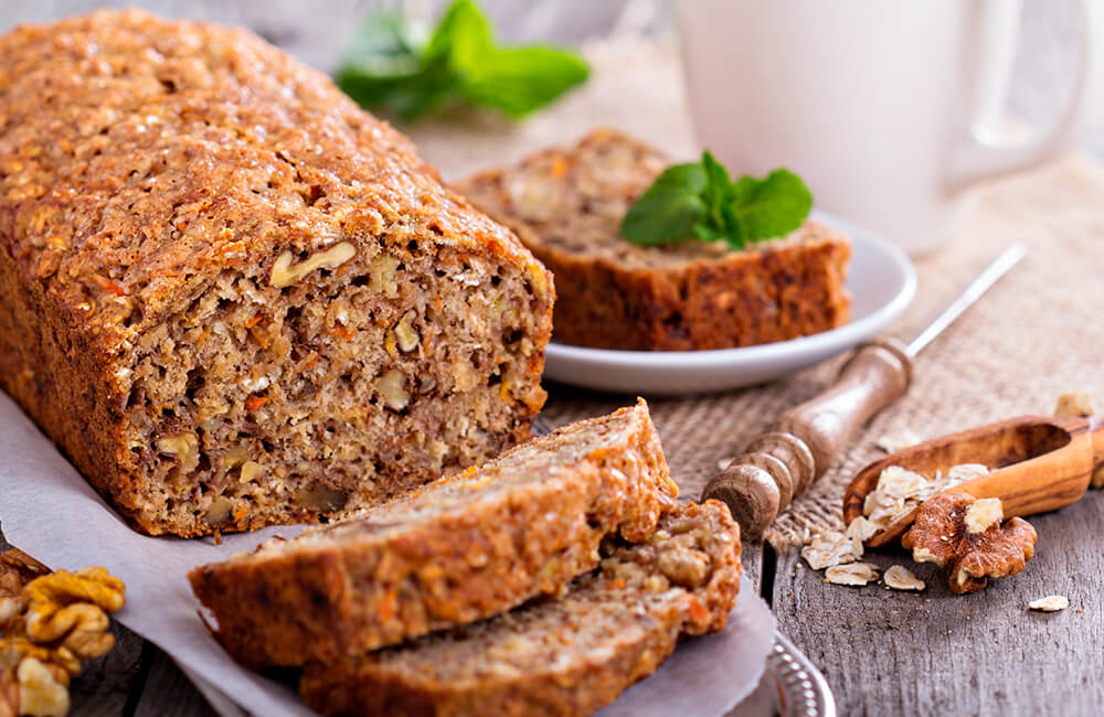
[[[255,35],[0,38],[0,386],[138,529],[339,516],[529,437],[548,271]]]

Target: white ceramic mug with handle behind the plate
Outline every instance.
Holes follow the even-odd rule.
[[[992,125],[1020,0],[681,0],[698,139],[737,174],[788,167],[821,208],[923,254],[964,189],[1075,147],[1098,119],[1104,0],[1079,4],[1073,95],[1013,141]]]

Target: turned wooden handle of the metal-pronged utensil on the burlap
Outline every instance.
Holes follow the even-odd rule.
[[[836,463],[859,427],[904,395],[911,382],[904,344],[895,339],[863,344],[825,393],[783,414],[713,477],[702,500],[725,502],[743,535],[761,537],[789,501]]]

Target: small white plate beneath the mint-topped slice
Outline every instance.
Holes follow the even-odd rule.
[[[715,351],[615,351],[551,343],[544,376],[597,390],[676,396],[763,383],[819,363],[872,339],[901,315],[916,293],[904,252],[868,229],[815,212],[851,237],[851,321],[790,341]]]

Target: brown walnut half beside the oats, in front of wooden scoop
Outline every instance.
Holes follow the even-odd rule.
[[[972,510],[975,503],[981,509]],[[1038,537],[1027,521],[1013,517],[1004,525],[999,505],[967,493],[940,493],[920,506],[916,522],[901,538],[917,563],[934,563],[949,572],[955,595],[976,592],[988,578],[1007,578],[1034,556]]]

